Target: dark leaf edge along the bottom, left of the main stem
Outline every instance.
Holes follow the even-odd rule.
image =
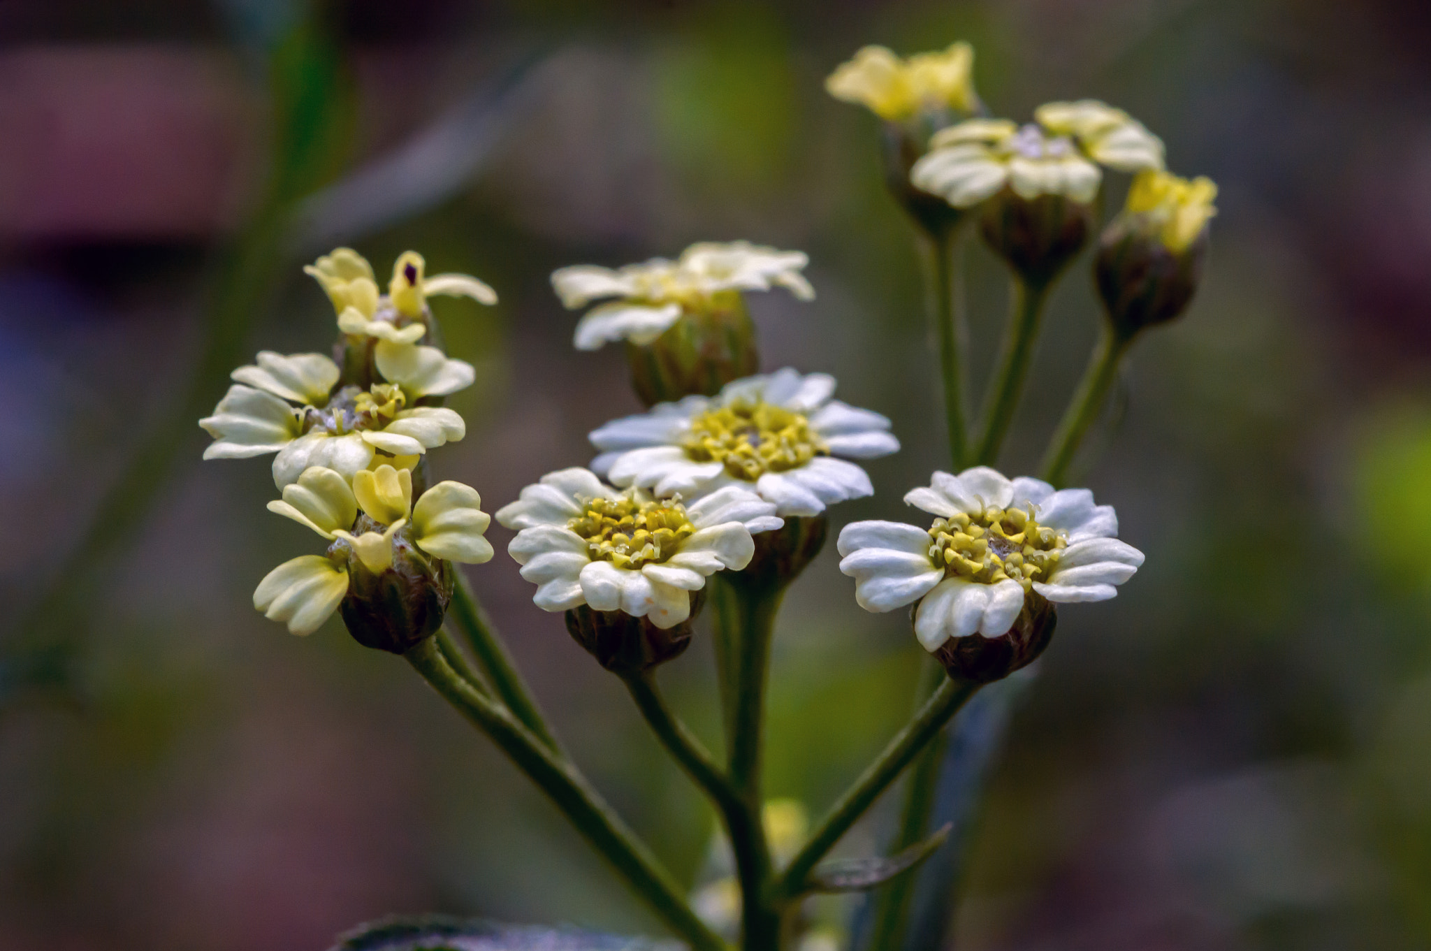
[[[339,935],[329,951],[670,951],[671,947],[650,938],[581,928],[504,925],[452,915],[395,915]]]

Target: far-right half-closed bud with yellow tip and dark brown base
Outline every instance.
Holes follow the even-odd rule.
[[[1218,189],[1209,179],[1143,172],[1123,212],[1099,239],[1093,276],[1120,339],[1176,319],[1188,307],[1208,253]]]

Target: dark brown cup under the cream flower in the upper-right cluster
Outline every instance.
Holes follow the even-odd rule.
[[[1030,287],[1047,287],[1083,249],[1092,206],[1063,194],[1025,199],[1012,189],[992,197],[979,222],[989,247]]]

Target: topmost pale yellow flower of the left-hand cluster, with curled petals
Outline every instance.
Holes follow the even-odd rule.
[[[343,333],[378,337],[392,343],[416,343],[428,332],[426,299],[446,295],[497,303],[497,292],[471,275],[424,276],[422,255],[404,252],[392,266],[388,293],[378,296],[378,280],[368,259],[351,247],[339,247],[303,267],[323,286],[338,312]]]

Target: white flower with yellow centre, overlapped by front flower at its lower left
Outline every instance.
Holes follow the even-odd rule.
[[[661,496],[741,485],[783,518],[820,515],[874,493],[864,469],[846,459],[899,450],[889,419],[833,395],[827,373],[747,376],[713,398],[687,396],[607,423],[591,433],[601,450],[591,468]]]

